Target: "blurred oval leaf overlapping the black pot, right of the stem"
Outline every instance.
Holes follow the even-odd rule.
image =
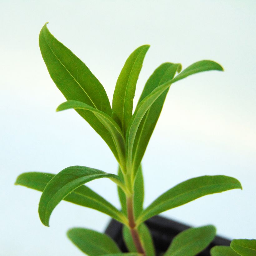
[[[164,256],[194,256],[203,251],[214,239],[214,226],[190,228],[176,235]]]

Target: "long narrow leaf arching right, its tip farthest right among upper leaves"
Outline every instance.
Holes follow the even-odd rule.
[[[189,69],[189,71],[186,71]],[[172,83],[179,81],[191,74],[208,71],[208,70],[222,70],[222,67],[213,61],[200,61],[192,64],[190,67],[181,72],[178,76],[167,81],[166,83],[157,86],[148,96],[146,96],[140,104],[135,109],[135,112],[130,121],[130,126],[127,128],[126,132],[126,148],[127,150],[127,169],[131,172],[135,172],[135,169],[132,169],[132,153],[134,147],[135,136],[138,132],[140,122],[145,116],[146,112],[152,106],[152,104],[171,86]],[[182,75],[183,74],[183,75]],[[134,174],[132,174],[134,175]]]

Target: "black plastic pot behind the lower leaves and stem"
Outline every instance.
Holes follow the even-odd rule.
[[[153,237],[157,255],[162,255],[169,247],[172,239],[181,231],[191,228],[174,220],[166,219],[160,216],[155,216],[145,222]],[[106,228],[105,234],[108,234],[116,241],[122,252],[127,252],[126,245],[122,237],[122,226],[120,222],[112,219]],[[209,256],[210,249],[215,245],[229,246],[230,240],[216,236],[213,242],[199,256]]]

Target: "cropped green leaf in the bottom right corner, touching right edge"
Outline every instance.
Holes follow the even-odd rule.
[[[242,256],[256,255],[256,239],[233,239],[230,247]]]

